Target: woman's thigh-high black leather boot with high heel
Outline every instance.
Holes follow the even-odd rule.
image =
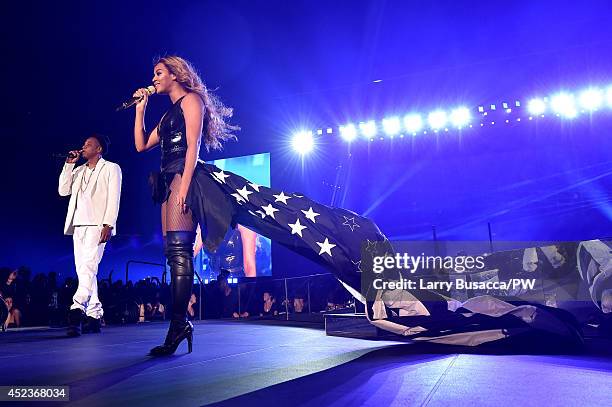
[[[172,320],[163,345],[151,349],[150,355],[171,355],[179,344],[187,339],[189,352],[192,349],[193,325],[185,318],[193,287],[193,243],[194,232],[167,232],[166,257],[170,265]]]

